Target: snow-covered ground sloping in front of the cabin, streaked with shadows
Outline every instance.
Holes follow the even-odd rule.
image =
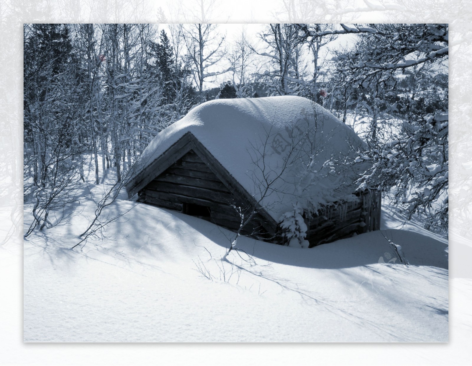
[[[126,200],[110,213],[130,208],[71,250],[94,210],[84,191],[70,221],[25,240],[25,341],[448,340],[447,241],[388,207],[381,231],[312,249],[241,237],[251,257],[228,262],[230,231]]]

